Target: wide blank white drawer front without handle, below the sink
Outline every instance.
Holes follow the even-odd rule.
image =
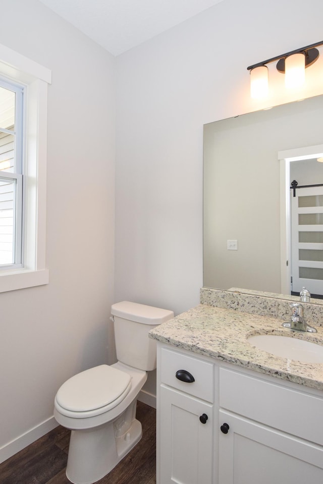
[[[220,407],[323,445],[323,399],[220,368]]]

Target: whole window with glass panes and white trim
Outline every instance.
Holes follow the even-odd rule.
[[[48,283],[47,86],[51,72],[0,44],[0,292]]]

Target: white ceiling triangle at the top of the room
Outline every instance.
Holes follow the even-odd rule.
[[[40,0],[111,52],[165,32],[223,0]]]

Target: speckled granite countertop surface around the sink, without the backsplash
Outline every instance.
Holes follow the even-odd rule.
[[[149,332],[149,336],[177,348],[323,390],[323,364],[274,356],[247,341],[249,336],[256,334],[277,334],[323,345],[322,327],[316,327],[317,333],[314,334],[298,333],[284,328],[283,322],[273,317],[201,304],[156,326]]]

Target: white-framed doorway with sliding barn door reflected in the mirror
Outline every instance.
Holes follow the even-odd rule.
[[[279,153],[282,292],[323,298],[323,145]]]

